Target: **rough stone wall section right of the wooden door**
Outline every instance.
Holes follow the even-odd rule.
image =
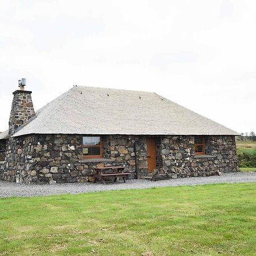
[[[205,155],[195,154],[195,136],[163,136],[157,141],[159,166],[153,180],[237,172],[234,136],[205,136]]]

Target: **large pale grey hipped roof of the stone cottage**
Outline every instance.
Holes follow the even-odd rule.
[[[20,126],[25,134],[238,135],[156,93],[74,86]]]

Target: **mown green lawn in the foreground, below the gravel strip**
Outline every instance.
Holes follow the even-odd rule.
[[[253,255],[256,183],[0,199],[0,255]]]

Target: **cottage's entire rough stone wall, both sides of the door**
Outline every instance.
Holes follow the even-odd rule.
[[[97,166],[126,166],[135,177],[134,142],[138,171],[147,175],[146,139],[140,136],[102,136],[103,159],[83,159],[82,135],[26,135],[11,138],[0,179],[26,184],[85,182]],[[206,136],[206,155],[195,155],[194,136],[157,136],[153,180],[209,176],[236,172],[234,136]]]

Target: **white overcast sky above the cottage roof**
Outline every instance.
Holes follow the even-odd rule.
[[[0,131],[24,77],[36,110],[73,85],[149,90],[256,132],[255,0],[0,3]]]

